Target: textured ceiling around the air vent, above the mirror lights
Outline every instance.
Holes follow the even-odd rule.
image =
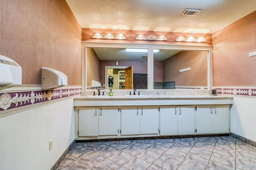
[[[256,0],[66,0],[82,28],[213,34],[256,10]],[[202,10],[182,16],[185,9]]]

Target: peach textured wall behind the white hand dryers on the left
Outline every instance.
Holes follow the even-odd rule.
[[[0,23],[0,55],[22,67],[22,84],[40,85],[49,67],[81,85],[82,28],[65,0],[1,0]]]

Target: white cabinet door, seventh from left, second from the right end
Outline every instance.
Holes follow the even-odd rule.
[[[196,133],[205,134],[213,132],[213,106],[196,107]]]

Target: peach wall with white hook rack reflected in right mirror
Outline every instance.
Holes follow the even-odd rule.
[[[175,81],[176,86],[207,86],[207,51],[180,51],[164,60],[164,82]],[[191,70],[180,72],[179,69]]]

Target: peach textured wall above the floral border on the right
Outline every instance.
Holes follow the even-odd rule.
[[[213,85],[256,85],[256,11],[212,35]]]

